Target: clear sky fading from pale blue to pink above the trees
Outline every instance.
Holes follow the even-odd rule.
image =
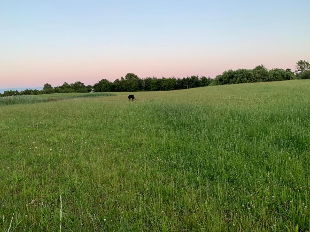
[[[310,61],[310,1],[0,0],[0,89]]]

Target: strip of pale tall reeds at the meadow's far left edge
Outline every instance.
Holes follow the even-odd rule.
[[[60,101],[70,98],[80,98],[80,97],[103,97],[103,96],[113,96],[113,93],[71,93],[71,94],[57,94],[54,93],[43,95],[18,95],[18,96],[8,96],[0,97],[0,105],[14,105],[14,104],[30,104],[30,103],[41,103],[48,101]]]

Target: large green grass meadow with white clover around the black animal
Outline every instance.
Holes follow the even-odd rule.
[[[0,106],[1,229],[310,230],[310,80],[128,94]]]

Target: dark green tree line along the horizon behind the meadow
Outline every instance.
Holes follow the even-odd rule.
[[[166,91],[178,90],[186,88],[197,88],[203,86],[223,85],[223,84],[239,84],[266,81],[281,81],[291,79],[310,79],[310,64],[306,60],[299,60],[296,63],[295,71],[289,68],[284,70],[274,68],[266,69],[263,65],[258,65],[253,69],[237,69],[227,70],[221,75],[217,75],[215,79],[206,76],[188,76],[183,78],[157,78],[147,77],[139,78],[133,73],[127,73],[125,78],[121,77],[111,82],[102,79],[93,86],[77,81],[72,84],[64,82],[61,86],[52,87],[50,84],[44,84],[42,90],[25,89],[23,91],[10,90],[4,91],[1,96],[14,95],[38,95],[47,93],[63,93],[63,92],[136,92],[136,91]]]

